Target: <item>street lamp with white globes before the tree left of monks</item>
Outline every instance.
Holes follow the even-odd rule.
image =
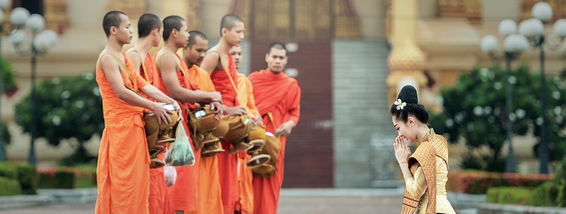
[[[29,15],[29,11],[23,7],[17,7],[10,14],[10,23],[15,28],[8,40],[15,46],[19,55],[32,57],[32,93],[31,93],[31,143],[29,147],[29,163],[36,165],[35,155],[35,131],[36,131],[36,104],[35,104],[35,80],[36,80],[36,57],[45,55],[47,51],[57,43],[57,33],[45,28],[45,19],[39,14]],[[31,30],[31,40],[27,40],[25,29]],[[40,31],[42,31],[40,33]]]

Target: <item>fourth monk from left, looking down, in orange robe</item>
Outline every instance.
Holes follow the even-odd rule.
[[[188,40],[187,47],[183,49],[183,61],[189,67],[187,73],[199,85],[201,91],[215,92],[216,89],[210,75],[199,67],[208,49],[208,39],[200,31],[190,31],[188,33],[191,37]],[[200,157],[198,185],[198,213],[224,213],[216,155]]]

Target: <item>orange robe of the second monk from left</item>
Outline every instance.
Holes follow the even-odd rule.
[[[134,45],[135,46],[135,45]],[[134,48],[132,46],[132,48]],[[126,53],[129,53],[130,50],[128,49]],[[158,72],[157,66],[155,65],[155,59],[151,56],[151,54],[147,53],[145,55],[145,59],[143,61],[144,67],[139,67],[139,74],[145,81],[149,84],[153,85],[156,88],[159,88],[159,79],[158,79]],[[141,94],[145,98],[149,99],[148,96],[145,96],[143,93]],[[153,100],[153,99],[149,99]],[[146,109],[148,112],[149,110]],[[164,161],[165,153],[160,153],[157,155],[157,159]],[[163,168],[157,169],[149,169],[149,213],[150,214],[175,214],[175,210],[173,209],[173,204],[169,202],[169,197],[167,194],[167,184],[165,183],[165,177],[163,174]]]

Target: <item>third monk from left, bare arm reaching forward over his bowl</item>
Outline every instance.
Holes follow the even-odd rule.
[[[163,20],[163,48],[156,53],[157,69],[162,81],[161,91],[171,95],[173,99],[185,104],[183,107],[183,117],[188,118],[190,111],[195,109],[195,102],[209,104],[212,109],[217,109],[217,119],[222,116],[221,106],[222,97],[218,92],[203,92],[199,86],[192,82],[188,76],[188,67],[185,62],[177,55],[179,48],[185,48],[189,38],[187,24],[179,16],[168,16]],[[187,119],[188,121],[188,119]],[[186,122],[185,131],[190,133]],[[200,149],[196,149],[191,143],[195,153],[195,164],[192,166],[177,167],[177,181],[175,185],[169,187],[169,198],[173,203],[177,213],[196,213],[198,211],[198,179],[200,166]]]

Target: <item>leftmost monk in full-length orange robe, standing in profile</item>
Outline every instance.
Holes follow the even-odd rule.
[[[145,82],[122,53],[122,46],[131,42],[133,33],[128,16],[110,11],[104,16],[102,27],[108,44],[96,63],[96,82],[105,128],[98,151],[95,213],[149,213],[149,151],[143,109],[151,110],[162,123],[172,122],[168,115],[172,112],[164,104],[180,108],[173,99]]]

